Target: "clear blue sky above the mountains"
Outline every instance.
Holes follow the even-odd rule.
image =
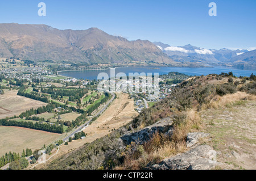
[[[38,16],[38,3],[46,16]],[[209,16],[210,2],[217,16]],[[0,1],[0,23],[47,24],[72,30],[97,27],[128,40],[192,44],[207,49],[256,49],[255,0],[9,0]]]

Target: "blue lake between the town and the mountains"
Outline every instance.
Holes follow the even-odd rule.
[[[228,68],[223,66],[216,66],[214,68],[172,68],[172,67],[129,67],[129,68],[115,68],[115,74],[125,73],[127,76],[129,73],[159,73],[159,75],[167,74],[170,71],[177,71],[179,73],[187,75],[208,75],[208,74],[221,74],[222,72],[228,73],[232,71],[237,77],[247,76],[250,77],[251,73],[256,74],[255,70],[240,70],[234,68]],[[60,71],[59,75],[64,75],[67,77],[78,78],[78,79],[97,79],[98,74],[107,73],[110,77],[110,69],[105,70],[70,70],[70,71]]]

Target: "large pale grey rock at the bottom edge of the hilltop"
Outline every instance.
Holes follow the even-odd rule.
[[[216,151],[209,145],[196,146],[186,153],[164,159],[154,170],[209,170],[216,166]]]

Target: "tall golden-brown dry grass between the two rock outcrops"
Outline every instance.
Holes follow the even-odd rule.
[[[187,151],[187,134],[200,129],[201,118],[193,109],[183,113],[186,118],[181,123],[174,125],[171,137],[167,134],[155,133],[143,146],[132,142],[123,153],[125,155],[123,165],[115,169],[143,169],[148,163],[159,163],[164,158]]]

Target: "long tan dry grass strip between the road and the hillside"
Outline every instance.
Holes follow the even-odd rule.
[[[117,93],[117,96],[119,99],[115,99],[96,121],[89,125],[88,128],[85,128],[84,132],[87,136],[84,140],[73,140],[72,142],[69,142],[68,145],[61,146],[59,153],[52,159],[56,159],[57,157],[75,150],[88,142],[92,142],[97,138],[104,137],[109,134],[112,129],[118,129],[133,120],[133,117],[138,115],[134,110],[134,100],[129,99],[127,94]],[[44,167],[44,165],[39,165],[36,169],[42,167]]]

